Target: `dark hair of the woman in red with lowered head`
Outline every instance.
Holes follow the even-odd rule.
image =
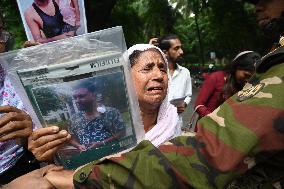
[[[240,91],[244,86],[237,82],[235,73],[237,70],[255,71],[255,66],[260,62],[261,56],[253,51],[242,52],[225,68],[227,73],[226,83],[223,87],[223,98],[227,99]]]

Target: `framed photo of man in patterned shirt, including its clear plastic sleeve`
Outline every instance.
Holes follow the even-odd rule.
[[[36,128],[71,134],[56,161],[75,169],[145,138],[122,27],[0,56]]]

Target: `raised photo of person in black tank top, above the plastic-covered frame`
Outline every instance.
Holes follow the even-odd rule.
[[[84,0],[17,0],[28,40],[47,43],[87,33]]]

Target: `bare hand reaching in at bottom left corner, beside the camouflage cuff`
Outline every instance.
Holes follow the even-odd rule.
[[[3,189],[56,189],[52,184],[50,184],[47,179],[44,178],[44,175],[49,170],[56,170],[57,168],[54,165],[48,165],[41,169],[34,170],[28,174],[25,174],[21,177],[16,178],[12,182],[4,185]]]

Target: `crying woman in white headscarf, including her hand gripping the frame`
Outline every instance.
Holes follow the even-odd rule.
[[[159,146],[181,134],[177,110],[167,100],[167,60],[159,48],[149,44],[134,45],[128,54],[145,139]],[[55,128],[40,128],[30,137],[29,149],[40,161],[52,160],[60,145],[70,138],[65,133],[53,132]]]

